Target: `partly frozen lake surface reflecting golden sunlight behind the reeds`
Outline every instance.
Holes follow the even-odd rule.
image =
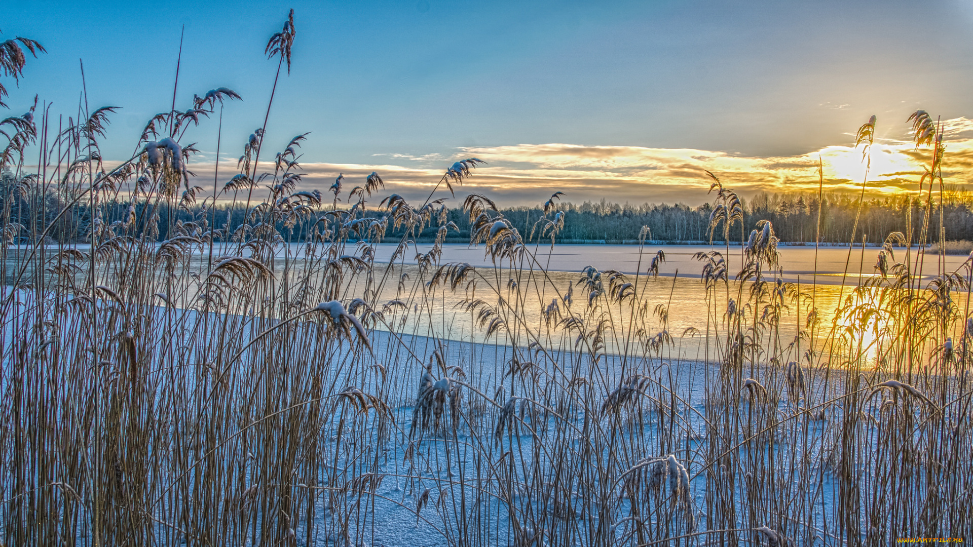
[[[376,260],[387,261],[394,248],[393,244],[378,245]],[[405,253],[407,255],[405,258],[398,259],[396,264],[401,265],[401,268],[395,270],[396,275],[402,272],[415,274],[414,267],[410,267],[415,264],[414,256],[417,253],[428,252],[429,248],[431,245],[411,247],[410,252]],[[665,253],[666,261],[659,269],[658,277],[649,276],[646,274],[648,265],[660,250]],[[508,266],[503,264],[498,265],[501,269],[497,270],[490,258],[486,256],[482,246],[452,244],[444,246],[441,264],[464,262],[477,267],[482,280],[476,283],[472,290],[467,288],[461,291],[450,291],[430,288],[427,296],[432,296],[428,300],[433,305],[427,305],[421,310],[421,305],[415,307],[416,302],[423,302],[422,299],[415,298],[421,295],[403,294],[390,290],[392,288],[390,286],[386,286],[381,294],[383,298],[389,300],[403,299],[410,303],[414,311],[421,311],[421,316],[413,316],[409,321],[410,332],[414,335],[485,342],[482,335],[483,328],[477,324],[476,315],[457,310],[461,309],[464,301],[468,302],[475,298],[490,302],[495,302],[497,298],[510,300],[513,298],[513,293],[509,287],[512,282],[516,282],[521,288],[529,289],[521,291],[520,296],[523,299],[520,303],[520,309],[523,310],[523,324],[534,327],[533,332],[543,339],[546,329],[537,328],[545,324],[542,310],[547,308],[555,298],[567,294],[569,287],[574,287],[574,303],[571,310],[575,313],[586,313],[588,291],[578,284],[582,276],[581,271],[585,267],[594,266],[601,272],[615,270],[629,274],[628,280],[635,284],[636,300],[644,299],[648,304],[648,310],[664,307],[667,312],[666,321],[663,321],[660,313],[653,312],[647,314],[648,320],[639,322],[632,319],[631,310],[625,307],[608,307],[605,311],[610,313],[612,321],[618,327],[617,332],[631,333],[644,329],[648,336],[653,336],[666,331],[672,337],[673,344],[667,346],[667,354],[663,355],[664,357],[708,361],[713,357],[712,347],[716,343],[717,336],[706,336],[706,333],[720,330],[726,321],[727,301],[734,299],[736,302],[743,302],[747,299],[749,290],[749,283],[740,286],[739,283],[731,281],[729,286],[720,289],[715,295],[710,292],[711,300],[707,301],[705,285],[701,279],[703,263],[695,259],[694,255],[701,251],[712,250],[723,253],[728,259],[728,271],[732,280],[739,272],[741,261],[739,246],[731,246],[728,252],[725,246],[646,244],[640,252],[637,245],[557,245],[554,249],[548,245],[536,248],[537,263],[533,265],[534,271],[531,272],[529,266],[520,271],[503,270]],[[802,352],[808,347],[806,342],[795,343],[799,330],[807,331],[818,348],[828,344],[829,339],[841,337],[844,333],[847,345],[838,351],[839,356],[855,360],[858,360],[857,357],[862,357],[859,362],[865,366],[877,365],[882,360],[883,346],[889,341],[889,337],[894,336],[885,334],[883,338],[879,334],[885,330],[887,318],[877,316],[865,324],[864,328],[850,332],[847,327],[852,320],[845,317],[835,320],[835,313],[840,303],[848,304],[849,297],[852,299],[850,302],[855,306],[876,304],[874,302],[878,294],[876,290],[870,289],[856,294],[856,289],[869,277],[880,275],[874,266],[879,251],[878,247],[854,247],[850,253],[847,246],[823,246],[818,249],[813,246],[779,247],[781,277],[783,281],[792,283],[792,287],[783,298],[784,306],[780,311],[779,321],[781,328],[775,334],[776,344],[788,346],[794,343],[791,358],[800,360]],[[894,260],[890,259],[889,263],[905,262],[908,257],[913,271],[918,271],[921,267],[922,286],[944,272],[958,271],[964,277],[968,274],[963,268],[968,261],[966,256],[948,255],[943,258],[930,253],[922,258],[921,264],[918,264],[916,249],[911,249],[910,253],[906,251],[905,248],[896,249]],[[543,267],[547,274],[538,275],[536,273],[538,265]],[[637,281],[632,275],[636,272],[640,274]],[[538,282],[542,277],[545,280]],[[608,290],[607,281],[605,281],[605,290]],[[803,295],[801,299],[797,298],[798,292]],[[958,304],[960,314],[963,317],[968,316],[969,299],[966,295],[955,294],[954,300]],[[559,302],[559,307],[566,312],[562,300]],[[748,322],[752,323],[754,319],[764,316],[765,307],[762,305],[760,308],[746,310],[750,317]],[[820,320],[818,326],[813,329],[809,329],[807,325],[811,310],[816,310]],[[634,328],[629,328],[631,325]],[[526,346],[531,340],[530,336],[528,333],[523,333],[521,340],[513,342]],[[559,344],[557,340],[553,342]],[[565,342],[571,341],[567,339],[560,341],[560,343]],[[606,346],[609,351],[626,354],[631,351],[632,341],[610,338],[606,341]]]

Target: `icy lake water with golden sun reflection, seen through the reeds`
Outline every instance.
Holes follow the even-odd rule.
[[[86,247],[87,245],[79,245],[77,248],[86,251]],[[396,247],[394,243],[374,245],[376,262],[387,264]],[[431,248],[431,244],[410,245],[406,252],[399,255],[394,266],[376,267],[375,277],[378,284],[371,288],[378,290],[378,303],[401,303],[394,310],[386,310],[386,321],[379,321],[374,325],[377,330],[395,330],[403,334],[453,341],[515,346],[527,346],[534,341],[555,346],[572,343],[573,339],[569,339],[563,330],[555,327],[559,318],[568,314],[564,297],[572,292],[570,312],[592,316],[593,310],[588,306],[589,290],[579,285],[578,281],[582,276],[581,271],[593,266],[600,272],[614,270],[627,274],[627,280],[634,283],[636,300],[647,303],[647,310],[651,310],[641,318],[635,318],[631,309],[625,306],[603,307],[598,312],[607,312],[616,327],[613,332],[631,334],[642,330],[647,337],[666,333],[673,342],[666,346],[667,354],[660,356],[668,359],[708,361],[714,355],[712,348],[717,343],[718,335],[707,333],[720,331],[725,324],[728,300],[744,302],[749,292],[748,284],[740,286],[732,281],[740,268],[739,245],[731,245],[729,249],[720,245],[646,244],[642,248],[638,245],[558,244],[554,248],[540,245],[531,248],[536,262],[525,261],[523,267],[510,270],[509,263],[494,265],[482,245],[447,244],[443,247],[440,265],[467,263],[476,268],[476,274],[467,279],[474,282],[464,282],[457,290],[450,290],[442,284],[428,284],[435,266],[426,274],[420,274],[416,257],[427,253]],[[348,243],[344,252],[352,255],[360,250],[360,245]],[[815,249],[813,246],[781,245],[778,250],[781,277],[793,286],[783,299],[784,306],[779,316],[781,328],[775,333],[776,343],[788,346],[795,342],[799,330],[804,329],[809,331],[808,334],[816,345],[826,344],[835,332],[840,333],[848,326],[847,319],[834,320],[839,303],[847,304],[847,298],[854,294],[864,280],[879,275],[874,265],[880,249],[853,247],[849,252],[847,246],[821,246]],[[665,253],[666,260],[659,268],[658,277],[654,277],[646,272],[657,251]],[[703,263],[694,258],[697,253],[708,251],[719,251],[724,255],[731,279],[729,286],[723,287],[718,293],[710,291],[709,300],[701,279]],[[229,252],[229,248],[216,248],[213,257]],[[16,256],[15,253],[12,255]],[[207,269],[208,249],[197,256],[198,263],[191,265],[191,268],[204,272]],[[894,258],[889,263],[905,262],[908,258],[914,271],[921,266],[923,286],[943,272],[959,271],[966,277],[963,269],[963,264],[968,261],[966,256],[939,257],[930,253],[923,257],[921,264],[917,263],[917,256],[915,248],[907,253],[907,249],[899,247],[895,249]],[[289,268],[292,273],[290,281],[298,281],[300,276],[306,274],[308,262],[305,246],[290,244],[278,247],[273,264],[277,281],[284,280],[285,268]],[[316,265],[312,271],[317,273],[312,274],[312,277],[320,278],[322,269],[319,260]],[[542,269],[546,273],[542,273]],[[12,270],[8,269],[8,272]],[[636,272],[639,273],[637,280],[634,276]],[[408,278],[402,280],[404,274],[408,274]],[[421,282],[417,283],[419,276],[422,276]],[[8,279],[8,284],[11,281]],[[367,289],[369,285],[365,277],[358,274],[348,284],[341,299],[347,303],[362,297]],[[604,279],[604,290],[609,290],[607,279]],[[800,300],[796,298],[798,292],[805,295]],[[869,300],[875,294],[874,290],[865,291],[853,297],[856,299],[854,304],[871,304]],[[478,313],[482,308],[464,310],[464,303],[468,304],[476,299],[488,303],[497,315],[510,324],[511,329],[502,329],[502,334],[499,335],[502,338],[494,336],[487,339],[484,332],[486,325],[479,321]],[[968,316],[969,299],[965,295],[956,294],[954,300],[961,316]],[[549,309],[555,301],[559,310],[551,315],[551,321],[545,321],[544,310]],[[187,304],[177,303],[179,306]],[[748,322],[764,316],[766,306],[761,305],[759,308],[745,310],[750,317]],[[516,313],[512,311],[514,309],[517,310]],[[820,319],[819,326],[808,329],[808,314],[815,309]],[[665,316],[662,311],[665,311]],[[883,331],[885,326],[882,320],[877,317],[864,329],[853,333],[851,346],[856,347],[843,350],[842,356],[856,357],[860,354],[865,357],[864,363],[870,364],[881,360],[883,340],[879,339],[877,333]],[[832,329],[832,326],[835,328]],[[634,341],[630,338],[609,337],[605,346],[609,352],[627,354],[633,350]],[[791,358],[799,360],[801,352],[807,348],[807,342],[796,342]]]

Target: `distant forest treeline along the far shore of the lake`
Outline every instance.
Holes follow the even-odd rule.
[[[19,231],[20,240],[37,237],[56,218],[56,225],[49,233],[50,237],[60,241],[83,241],[90,235],[92,220],[96,225],[103,223],[104,226],[110,226],[129,215],[129,204],[126,201],[113,201],[100,204],[100,213],[92,217],[89,203],[83,200],[57,218],[70,197],[58,196],[51,191],[42,193],[29,184],[15,180],[10,173],[0,177],[0,200],[4,226],[12,222],[22,226]],[[881,243],[888,234],[906,234],[911,228],[913,242],[919,242],[919,228],[927,210],[930,215],[929,241],[939,239],[940,215],[947,240],[973,239],[973,194],[962,189],[952,189],[943,193],[942,200],[943,204],[940,206],[938,192],[933,194],[931,204],[910,196],[870,199],[861,203],[859,216],[858,200],[852,196],[825,194],[818,200],[816,194],[758,194],[751,200],[742,202],[743,223],[742,226],[739,223],[733,225],[730,239],[736,242],[747,237],[757,222],[766,219],[773,223],[775,233],[781,241],[814,241],[819,222],[820,241],[847,242],[852,238],[855,217],[859,216],[858,228],[853,237],[855,241],[861,241],[864,237],[867,242]],[[146,207],[152,207],[148,211],[152,214],[143,214]],[[285,239],[297,241],[306,237],[310,226],[331,208],[331,204],[322,203],[320,210],[304,222],[292,227],[279,226],[278,231]],[[547,215],[540,206],[507,207],[498,212],[521,232],[525,240],[536,241],[541,232],[538,221],[553,219],[560,212],[563,226],[559,228],[556,240],[561,242],[629,242],[638,237],[643,226],[649,229],[649,239],[654,241],[711,239],[714,242],[723,242],[722,229],[710,235],[712,210],[713,205],[710,203],[691,207],[681,203],[631,205],[585,201],[580,204],[557,203]],[[218,204],[209,209],[204,209],[200,204],[177,208],[164,202],[139,202],[135,205],[135,213],[142,224],[136,227],[136,232],[141,234],[148,228],[151,236],[160,240],[167,238],[170,227],[175,222],[197,222],[207,226],[215,224],[217,228],[229,224],[235,228],[243,223],[246,214],[244,203],[241,202],[233,205]],[[356,216],[380,219],[386,214],[380,208],[366,208],[357,212]],[[443,214],[434,216],[432,225],[426,226],[420,234],[414,236],[416,241],[428,241],[436,237],[441,222],[451,222],[458,229],[450,229],[450,242],[469,241],[469,218],[460,208],[447,207]],[[149,226],[153,217],[156,220]],[[326,226],[333,224],[334,221],[325,223]],[[385,238],[397,239],[403,233],[403,228],[394,229],[390,225]],[[546,234],[543,240],[549,241],[549,235]]]

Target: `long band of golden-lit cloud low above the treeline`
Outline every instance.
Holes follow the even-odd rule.
[[[959,134],[973,130],[973,121],[950,120],[946,127]],[[749,198],[758,192],[817,192],[819,163],[824,171],[825,192],[859,192],[868,166],[863,162],[862,149],[838,145],[790,157],[565,143],[464,147],[456,151],[451,157],[387,154],[376,164],[303,163],[306,174],[300,189],[326,193],[335,177],[343,173],[340,199],[344,200],[351,188],[363,185],[365,178],[377,171],[385,181],[385,194],[396,193],[409,201],[421,202],[438,187],[436,198],[449,198],[445,185],[440,185],[446,167],[457,159],[477,157],[488,164],[475,169],[461,186],[454,186],[457,199],[481,193],[501,205],[534,205],[561,191],[566,193],[565,201],[574,202],[604,199],[698,205],[711,199],[707,195],[711,180],[706,171]],[[877,142],[871,149],[866,194],[883,197],[918,192],[923,164],[928,164],[929,157],[928,149],[917,149],[911,143]],[[211,162],[194,163],[190,168],[198,175],[197,184],[212,187]],[[235,172],[235,161],[221,162],[220,184]],[[948,141],[943,162],[945,182],[969,184],[971,173],[973,139]],[[262,198],[266,191],[255,192]]]

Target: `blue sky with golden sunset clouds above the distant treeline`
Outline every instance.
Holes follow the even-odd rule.
[[[265,147],[310,131],[303,189],[373,170],[424,199],[453,161],[486,161],[457,196],[535,204],[684,202],[711,197],[703,169],[743,196],[859,188],[856,129],[878,117],[869,193],[915,189],[908,143],[919,108],[947,123],[944,174],[973,165],[973,0],[928,2],[23,2],[3,1],[2,39],[29,58],[5,102],[76,116],[81,63],[91,109],[119,106],[106,160],[136,149],[172,101],[227,87],[219,178],[263,124],[276,62],[264,47],[295,10],[290,74],[277,84]],[[6,115],[0,113],[0,115]],[[56,116],[54,118],[56,120]],[[219,121],[193,169],[212,179]]]

